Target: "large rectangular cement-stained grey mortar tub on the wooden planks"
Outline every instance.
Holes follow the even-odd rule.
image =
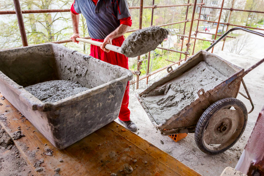
[[[59,44],[2,50],[0,63],[1,94],[59,149],[116,119],[133,78],[125,68]],[[49,80],[77,81],[89,89],[43,103],[23,88]]]

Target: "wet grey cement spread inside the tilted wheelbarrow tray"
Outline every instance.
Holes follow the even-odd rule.
[[[141,98],[155,122],[160,124],[163,119],[170,119],[172,115],[190,105],[198,97],[197,92],[201,88],[208,91],[226,79],[215,68],[201,61],[181,76],[157,87],[149,95],[142,95]]]

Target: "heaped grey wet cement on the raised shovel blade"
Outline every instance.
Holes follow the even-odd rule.
[[[121,46],[121,52],[127,57],[136,57],[157,48],[168,37],[167,29],[154,26],[130,34]]]

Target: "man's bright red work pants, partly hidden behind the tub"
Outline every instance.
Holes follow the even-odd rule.
[[[95,41],[103,42],[102,39],[91,39]],[[125,40],[124,36],[115,38],[112,40],[112,45],[121,46]],[[109,53],[103,51],[99,46],[91,45],[91,54],[90,56],[95,57],[101,61],[105,61],[109,64],[118,65],[120,67],[128,69],[128,58],[120,53],[110,51]],[[129,102],[129,81],[126,84],[125,95],[122,100],[121,109],[119,111],[119,119],[122,121],[130,120],[130,110],[128,109]]]

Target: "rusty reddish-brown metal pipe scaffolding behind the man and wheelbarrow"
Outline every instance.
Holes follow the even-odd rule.
[[[0,11],[0,15],[4,15],[4,14],[16,14],[17,15],[17,21],[18,21],[18,25],[19,25],[19,30],[20,30],[21,40],[22,40],[23,46],[28,46],[28,43],[27,43],[27,36],[26,36],[26,32],[25,32],[25,25],[24,25],[24,21],[23,21],[22,14],[70,12],[70,9],[21,10],[19,0],[13,0],[13,1],[14,1],[15,10]],[[185,20],[184,21],[172,22],[172,23],[168,23],[168,24],[157,25],[157,26],[162,27],[162,26],[168,26],[168,25],[174,25],[174,24],[184,23],[183,34],[182,35],[177,34],[177,36],[181,37],[181,40],[182,40],[181,41],[181,50],[180,51],[177,51],[177,50],[174,50],[174,49],[163,48],[163,47],[157,47],[158,49],[163,49],[163,50],[168,50],[168,51],[171,51],[171,52],[180,53],[180,59],[179,59],[179,61],[174,62],[174,61],[169,61],[169,60],[166,59],[166,61],[169,61],[169,62],[172,62],[172,63],[169,64],[169,65],[167,65],[167,66],[165,66],[165,67],[163,67],[163,68],[159,68],[159,69],[157,69],[157,70],[149,73],[149,61],[150,61],[150,52],[149,52],[148,53],[148,66],[147,66],[146,75],[139,77],[140,74],[141,74],[140,69],[142,68],[141,67],[142,60],[140,59],[140,56],[138,56],[138,58],[137,58],[137,62],[138,62],[137,63],[137,70],[133,72],[137,76],[137,78],[136,78],[136,81],[131,81],[130,82],[130,84],[137,83],[136,84],[136,89],[139,88],[139,81],[140,80],[143,80],[143,79],[146,78],[146,84],[148,84],[149,76],[154,75],[155,73],[160,72],[160,71],[162,71],[162,70],[164,70],[164,69],[166,69],[168,67],[171,67],[172,65],[175,65],[175,64],[180,65],[181,61],[186,61],[188,55],[190,55],[189,50],[190,50],[190,47],[191,47],[191,43],[190,43],[190,40],[191,39],[194,39],[193,49],[192,49],[192,54],[194,54],[196,40],[203,40],[203,41],[214,42],[215,39],[216,39],[216,36],[222,36],[221,34],[217,34],[219,24],[227,25],[227,30],[228,30],[228,27],[229,26],[238,26],[238,27],[244,27],[244,28],[250,28],[250,29],[258,29],[258,28],[249,27],[249,26],[241,26],[241,25],[230,24],[232,11],[254,12],[254,13],[262,13],[262,14],[264,13],[264,11],[234,9],[233,8],[234,7],[234,0],[232,0],[231,8],[223,8],[224,0],[222,0],[221,7],[204,6],[205,3],[203,3],[203,0],[201,1],[201,3],[197,3],[197,0],[194,0],[194,3],[190,3],[190,0],[188,0],[188,3],[187,4],[174,4],[174,5],[163,5],[163,6],[156,6],[155,5],[155,0],[152,1],[152,6],[143,6],[143,1],[144,0],[140,0],[140,6],[132,6],[132,7],[129,7],[129,9],[139,9],[139,26],[138,26],[138,29],[129,30],[128,33],[129,32],[134,32],[134,31],[139,30],[139,29],[142,29],[142,13],[143,13],[143,9],[152,9],[152,11],[151,11],[151,22],[150,22],[150,26],[153,26],[153,14],[154,14],[154,9],[156,9],[156,8],[168,8],[168,7],[186,6],[187,9],[186,9],[186,15],[185,15]],[[187,17],[188,17],[188,11],[189,11],[189,6],[193,6],[192,19],[187,19]],[[196,6],[200,7],[200,10],[199,10],[199,18],[198,19],[195,19],[194,18]],[[205,33],[205,32],[202,32],[202,31],[198,31],[198,27],[199,27],[199,22],[200,21],[201,22],[212,22],[212,23],[216,23],[214,21],[200,19],[202,8],[220,9],[219,19],[218,19],[218,22],[217,22],[217,27],[216,27],[215,34],[213,34],[213,33]],[[228,17],[228,22],[227,23],[220,22],[222,10],[230,10],[229,17]],[[194,21],[198,21],[198,22],[197,22],[196,31],[195,31],[194,34],[192,34],[192,25],[193,25],[193,22]],[[185,35],[186,23],[187,22],[191,22],[188,36]],[[264,30],[264,29],[259,29],[259,30]],[[197,38],[197,34],[198,33],[211,34],[211,35],[215,35],[215,37],[214,37],[214,40],[207,40],[207,39]],[[192,36],[194,36],[194,37],[192,37]],[[231,37],[231,36],[226,36],[226,37]],[[224,48],[224,44],[225,44],[226,37],[223,39],[223,47],[222,47],[222,50]],[[91,37],[84,37],[84,38],[90,39]],[[187,46],[186,51],[183,51],[184,38],[188,38],[188,42],[186,43],[186,46]],[[235,38],[235,37],[231,37],[231,38]],[[54,42],[49,42],[49,43],[58,43],[58,44],[61,44],[61,43],[67,43],[67,42],[71,42],[71,40],[54,41]],[[214,48],[212,48],[212,53],[213,53],[213,49]],[[181,59],[182,54],[185,55],[184,59]]]

